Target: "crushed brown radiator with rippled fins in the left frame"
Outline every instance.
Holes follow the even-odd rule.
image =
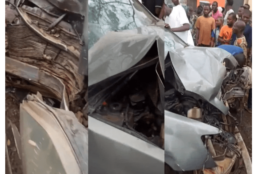
[[[56,76],[65,84],[69,100],[76,100],[84,78],[78,74],[82,48],[79,35],[65,21],[60,21],[53,31],[46,31],[56,18],[40,8],[23,5],[17,11],[21,23],[7,26],[10,58]]]

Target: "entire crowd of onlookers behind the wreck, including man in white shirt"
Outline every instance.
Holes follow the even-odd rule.
[[[147,4],[145,1],[142,0],[144,5]],[[244,54],[244,65],[252,66],[252,12],[248,4],[237,9],[238,13],[235,14],[233,0],[227,0],[225,8],[219,7],[218,2],[214,1],[212,4],[198,6],[195,11],[192,7],[185,10],[179,0],[171,2],[173,4],[170,5],[163,0],[155,0],[151,4],[151,13],[165,21],[165,28],[169,28],[189,45],[241,52]]]

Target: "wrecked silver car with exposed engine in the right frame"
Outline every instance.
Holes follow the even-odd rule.
[[[237,128],[251,69],[225,50],[188,46],[165,31],[165,173],[230,174],[243,160],[251,174]]]

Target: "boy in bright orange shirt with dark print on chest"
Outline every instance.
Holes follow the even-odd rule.
[[[220,30],[218,41],[221,44],[226,44],[226,45],[230,44],[231,36],[232,36],[232,28],[235,22],[236,22],[236,14],[230,13],[230,15],[228,15],[228,21],[227,21],[228,25],[223,26]]]

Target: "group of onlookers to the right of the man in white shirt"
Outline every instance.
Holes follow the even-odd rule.
[[[243,49],[246,59],[252,55],[252,12],[245,4],[238,9],[238,14],[232,9],[233,0],[227,0],[226,9],[218,7],[218,2],[212,5],[198,6],[196,12],[189,16],[190,30],[196,46],[216,47],[234,45]]]

